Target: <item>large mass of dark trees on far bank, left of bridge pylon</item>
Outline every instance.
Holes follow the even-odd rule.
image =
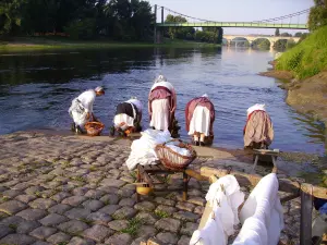
[[[142,0],[1,0],[0,35],[68,34],[148,40],[155,17]]]

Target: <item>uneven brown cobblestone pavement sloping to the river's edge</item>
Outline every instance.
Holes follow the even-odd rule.
[[[136,245],[149,238],[189,244],[209,183],[191,179],[189,199],[182,201],[180,193],[169,192],[182,185],[182,176],[170,175],[158,186],[167,192],[136,204],[131,184],[135,173],[124,163],[126,142],[31,133],[0,136],[0,244]],[[247,168],[231,159],[215,163],[208,158],[193,166],[231,164],[240,171]],[[284,205],[283,244],[299,243],[299,211],[298,199]]]

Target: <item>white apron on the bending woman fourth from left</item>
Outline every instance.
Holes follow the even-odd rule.
[[[202,133],[205,136],[210,132],[210,111],[206,107],[196,106],[191,122],[189,135],[193,135],[195,132]]]

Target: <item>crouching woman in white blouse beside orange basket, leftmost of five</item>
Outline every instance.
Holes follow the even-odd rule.
[[[93,105],[95,98],[102,95],[105,95],[105,89],[99,86],[95,89],[88,89],[82,93],[77,98],[73,99],[72,106],[69,109],[69,113],[74,120],[72,131],[82,134],[84,132],[85,123],[88,121],[97,121],[93,112]]]

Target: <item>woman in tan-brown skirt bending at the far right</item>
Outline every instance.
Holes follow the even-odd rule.
[[[274,139],[274,127],[265,105],[247,109],[247,121],[243,130],[244,148],[268,149]]]

